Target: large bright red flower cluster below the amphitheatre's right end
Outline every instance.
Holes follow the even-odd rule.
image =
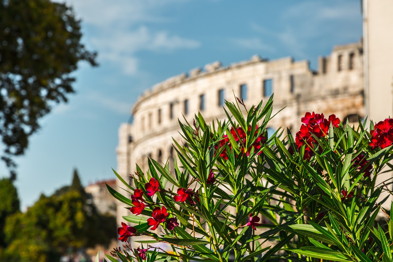
[[[334,114],[331,114],[328,119],[324,118],[323,114],[316,114],[307,112],[304,117],[301,118],[300,131],[296,133],[296,146],[298,150],[301,146],[305,146],[304,159],[310,159],[312,154],[312,144],[315,143],[315,139],[311,134],[316,135],[318,138],[325,137],[329,132],[330,124],[333,127],[338,127],[340,119],[336,118]]]

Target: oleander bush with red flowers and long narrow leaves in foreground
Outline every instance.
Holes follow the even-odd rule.
[[[226,121],[179,121],[174,164],[149,159],[132,185],[115,172],[130,197],[108,190],[130,214],[108,260],[393,261],[393,208],[380,197],[392,184],[393,119],[370,132],[367,120],[306,113],[295,135],[268,137],[272,104],[226,101]]]

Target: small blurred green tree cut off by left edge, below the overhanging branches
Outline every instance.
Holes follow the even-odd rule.
[[[0,249],[6,247],[4,223],[7,216],[19,211],[19,198],[17,188],[7,178],[0,180]]]

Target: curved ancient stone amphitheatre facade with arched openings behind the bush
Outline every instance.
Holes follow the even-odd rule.
[[[172,138],[181,140],[178,119],[192,122],[200,111],[209,122],[222,120],[226,118],[223,98],[235,101],[234,95],[250,108],[274,92],[273,114],[285,108],[270,121],[270,131],[279,127],[298,131],[307,111],[336,114],[340,120],[357,123],[365,115],[362,42],[335,46],[331,55],[318,61],[315,72],[308,61],[290,57],[268,61],[255,55],[229,66],[214,62],[205,70],[195,68],[154,85],[132,107],[133,123],[119,128],[117,172],[127,181],[135,163],[147,170],[149,157],[162,162],[173,159]],[[119,220],[129,214],[123,206],[118,207]]]

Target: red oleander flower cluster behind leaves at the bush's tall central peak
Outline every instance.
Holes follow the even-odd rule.
[[[248,127],[248,131],[251,131],[251,125]],[[258,133],[258,126],[255,127],[255,135],[257,135],[257,133]],[[240,149],[243,152],[243,154],[247,154],[247,156],[250,155],[252,148],[254,148],[254,152],[256,152],[261,148],[261,144],[264,144],[266,142],[266,138],[263,135],[259,135],[259,137],[257,137],[255,142],[250,146],[250,148],[248,148],[246,150],[246,148],[244,148],[244,146],[246,145],[246,142],[247,142],[246,132],[244,132],[244,130],[241,127],[237,127],[236,130],[233,127],[231,127],[231,135],[233,136],[233,138],[235,138],[235,141],[238,144],[240,144]],[[228,147],[230,149],[232,148],[232,145],[229,142],[228,136],[224,135],[223,138],[219,141],[219,145],[215,146],[215,149],[217,150],[219,148],[223,148],[223,147],[225,147],[226,144],[228,144]],[[258,155],[260,153],[261,152],[259,152]],[[223,159],[228,160],[226,148],[224,148],[224,150],[221,152],[220,156]]]

